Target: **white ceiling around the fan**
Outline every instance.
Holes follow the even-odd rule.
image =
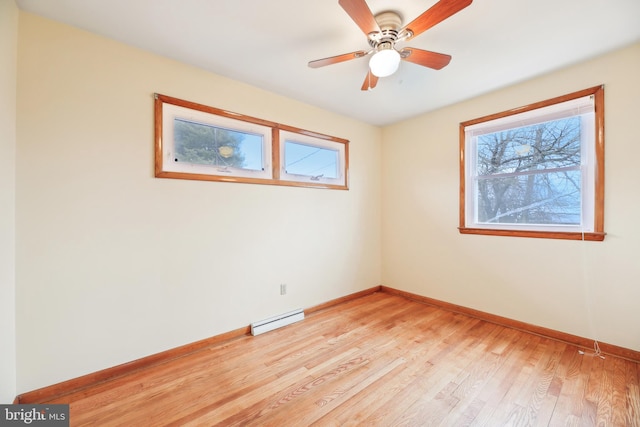
[[[640,40],[640,0],[475,0],[399,44],[447,53],[442,70],[403,62],[361,91],[368,50],[338,0],[16,0],[22,10],[374,125],[391,124]],[[404,24],[436,0],[368,0]],[[179,94],[176,94],[178,96]]]

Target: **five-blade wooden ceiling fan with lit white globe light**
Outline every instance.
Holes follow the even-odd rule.
[[[439,70],[449,64],[450,55],[417,49],[396,48],[396,43],[411,40],[434,25],[469,6],[473,0],[440,0],[409,24],[402,26],[402,18],[393,11],[371,13],[365,0],[338,0],[338,4],[367,36],[369,51],[358,50],[329,58],[309,62],[309,67],[319,68],[373,54],[369,60],[369,72],[362,84],[362,90],[371,90],[378,84],[378,78],[395,73],[401,60],[423,67]]]

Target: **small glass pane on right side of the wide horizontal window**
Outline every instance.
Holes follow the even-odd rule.
[[[310,177],[338,178],[337,150],[285,141],[285,171],[289,174]]]

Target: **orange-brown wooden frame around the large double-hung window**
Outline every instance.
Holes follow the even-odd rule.
[[[554,104],[560,104],[573,99],[593,96],[595,112],[595,147],[594,147],[594,176],[593,176],[593,231],[573,232],[573,231],[539,231],[527,229],[495,229],[495,228],[473,228],[466,225],[466,184],[467,184],[467,159],[465,156],[466,128],[482,122],[487,122],[503,117],[508,117],[527,111],[532,111]],[[469,159],[471,160],[471,159]],[[523,107],[514,108],[501,113],[491,114],[473,120],[460,123],[460,222],[458,230],[461,234],[478,234],[491,236],[514,236],[514,237],[534,237],[547,239],[565,240],[589,240],[603,241],[604,232],[604,86],[595,86],[567,95],[552,98],[546,101],[536,102]],[[523,228],[526,228],[524,226]]]

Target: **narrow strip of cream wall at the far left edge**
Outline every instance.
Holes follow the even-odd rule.
[[[16,395],[15,153],[18,8],[0,0],[0,403]]]

